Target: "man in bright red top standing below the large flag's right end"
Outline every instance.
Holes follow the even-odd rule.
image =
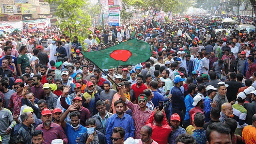
[[[137,75],[137,83],[132,85],[136,97],[136,104],[138,104],[138,97],[143,93],[144,89],[147,89],[147,86],[143,84],[143,76],[141,74]]]

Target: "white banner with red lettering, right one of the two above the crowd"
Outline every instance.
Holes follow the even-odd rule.
[[[48,29],[51,27],[50,19],[40,19],[40,20],[28,20],[23,21],[23,29],[27,30],[28,32],[35,32],[37,28],[40,31],[43,31],[45,28]]]

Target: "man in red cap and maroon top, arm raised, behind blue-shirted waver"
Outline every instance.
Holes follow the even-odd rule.
[[[70,91],[70,86],[66,86],[63,89],[62,96],[60,98],[60,104],[64,109],[68,109],[70,107],[69,104],[66,102],[66,97],[68,95],[68,92]],[[80,124],[85,127],[85,121],[91,117],[91,114],[89,110],[82,106],[82,98],[81,97],[75,97],[73,100],[73,103],[77,104],[76,111],[80,113]]]

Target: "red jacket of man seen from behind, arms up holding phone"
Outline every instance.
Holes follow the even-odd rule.
[[[171,134],[171,127],[169,126],[165,113],[164,113],[164,120],[162,122],[162,127],[158,127],[154,125],[154,115],[155,112],[152,112],[149,119],[146,122],[146,125],[153,129],[153,133],[151,138],[156,141],[158,144],[167,144],[169,134]]]

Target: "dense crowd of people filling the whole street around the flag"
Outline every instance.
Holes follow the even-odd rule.
[[[254,17],[193,15],[0,36],[2,144],[256,144]],[[221,17],[221,18],[224,18]],[[221,31],[216,31],[220,28]],[[152,56],[101,70],[81,52],[137,38]]]

